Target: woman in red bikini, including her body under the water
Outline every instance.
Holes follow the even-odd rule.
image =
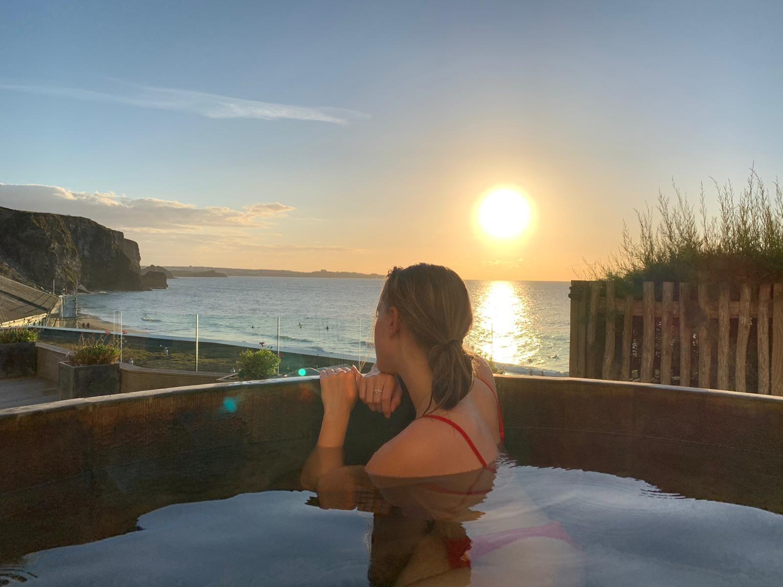
[[[493,373],[463,346],[472,321],[467,288],[449,268],[420,263],[388,272],[372,371],[321,372],[323,421],[302,484],[318,492],[321,507],[381,508],[373,523],[373,585],[505,585],[517,584],[519,573],[531,584],[577,585],[565,531],[524,492],[500,515],[474,509],[493,487],[504,434]],[[342,466],[357,400],[388,418],[404,393],[416,410],[413,422],[366,466]],[[390,515],[389,506],[403,515]],[[471,537],[468,521],[478,530]]]

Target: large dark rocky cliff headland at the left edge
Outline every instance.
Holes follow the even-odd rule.
[[[128,256],[130,255],[130,257]],[[79,216],[0,207],[0,272],[35,286],[144,290],[139,246]]]

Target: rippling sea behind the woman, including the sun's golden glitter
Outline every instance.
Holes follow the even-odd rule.
[[[465,282],[466,343],[509,373],[568,372],[568,282]],[[168,290],[80,294],[79,311],[124,330],[374,358],[382,279],[181,277]],[[197,319],[198,316],[198,319]],[[278,330],[279,326],[279,330]]]

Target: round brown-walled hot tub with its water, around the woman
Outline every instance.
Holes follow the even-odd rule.
[[[0,585],[783,584],[783,398],[496,382],[505,450],[442,498],[305,491],[316,377],[0,411]],[[345,463],[411,416],[358,405]]]

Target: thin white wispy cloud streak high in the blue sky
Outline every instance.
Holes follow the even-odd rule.
[[[87,102],[128,104],[157,110],[180,110],[207,118],[254,118],[272,121],[289,118],[299,121],[320,121],[333,124],[350,124],[368,118],[366,114],[343,108],[290,106],[259,102],[228,95],[208,94],[174,88],[155,88],[146,85],[118,82],[124,92],[95,92],[81,88],[61,88],[45,85],[0,84],[0,89],[12,92],[50,95]]]

